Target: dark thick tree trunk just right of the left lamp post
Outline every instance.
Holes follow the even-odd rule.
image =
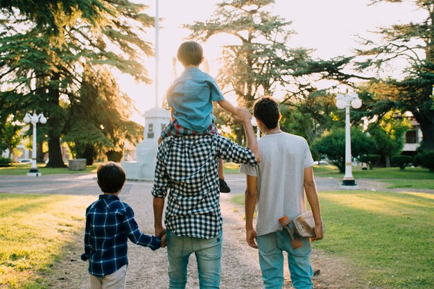
[[[58,73],[54,73],[52,82],[55,83],[55,80],[60,80],[60,76]],[[46,164],[48,168],[66,168],[67,166],[64,164],[62,159],[62,150],[60,148],[60,134],[63,128],[63,119],[62,113],[63,108],[60,107],[59,104],[59,96],[60,90],[58,86],[53,84],[49,88],[48,93],[48,102],[50,107],[50,111],[46,113],[47,122],[46,125],[48,127],[48,136],[49,136],[49,163]]]

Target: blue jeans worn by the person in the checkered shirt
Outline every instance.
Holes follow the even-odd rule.
[[[185,288],[187,265],[194,252],[198,262],[200,288],[219,288],[222,234],[201,239],[176,236],[166,229],[169,289]]]

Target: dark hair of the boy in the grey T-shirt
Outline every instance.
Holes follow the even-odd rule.
[[[279,103],[275,98],[264,96],[253,105],[253,115],[271,130],[279,124]]]

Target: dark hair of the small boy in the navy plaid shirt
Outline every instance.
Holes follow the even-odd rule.
[[[117,193],[121,191],[125,183],[125,170],[113,161],[107,161],[107,164],[98,166],[96,175],[98,186],[103,193]]]

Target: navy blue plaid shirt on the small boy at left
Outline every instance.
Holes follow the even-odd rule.
[[[104,277],[128,264],[127,241],[150,249],[158,249],[161,238],[143,234],[134,220],[131,207],[116,195],[100,195],[86,209],[85,254],[89,273]]]

